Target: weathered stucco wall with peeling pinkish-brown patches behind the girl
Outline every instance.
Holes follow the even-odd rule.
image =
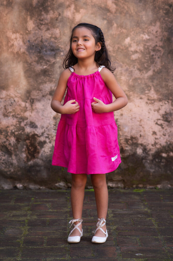
[[[70,186],[51,165],[60,115],[50,101],[79,22],[101,27],[129,99],[114,113],[122,163],[108,185],[172,186],[172,0],[2,0],[0,9],[1,188]]]

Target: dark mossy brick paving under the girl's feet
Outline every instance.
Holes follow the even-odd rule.
[[[139,191],[109,190],[108,239],[100,245],[91,243],[93,191],[85,191],[78,244],[67,243],[70,190],[1,191],[0,260],[173,260],[173,191]]]

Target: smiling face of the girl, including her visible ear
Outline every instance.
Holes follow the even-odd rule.
[[[71,47],[74,56],[79,59],[95,56],[96,49],[101,48],[99,43],[95,44],[91,30],[86,27],[78,27],[74,30]]]

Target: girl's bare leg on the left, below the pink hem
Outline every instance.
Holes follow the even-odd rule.
[[[72,174],[71,205],[73,218],[82,218],[86,181],[87,174]],[[79,221],[74,224],[77,225],[78,223]],[[73,225],[72,228],[74,228]],[[82,224],[79,226],[79,229],[82,231]],[[70,236],[80,236],[78,229],[75,229]]]

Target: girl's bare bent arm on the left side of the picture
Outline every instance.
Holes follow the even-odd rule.
[[[58,85],[56,87],[54,96],[51,101],[51,108],[61,114],[74,114],[76,111],[79,111],[79,104],[75,100],[69,100],[66,104],[62,105],[62,98],[67,89],[67,80],[70,76],[71,72],[66,69],[64,70],[59,78]],[[74,104],[72,104],[74,103]]]

